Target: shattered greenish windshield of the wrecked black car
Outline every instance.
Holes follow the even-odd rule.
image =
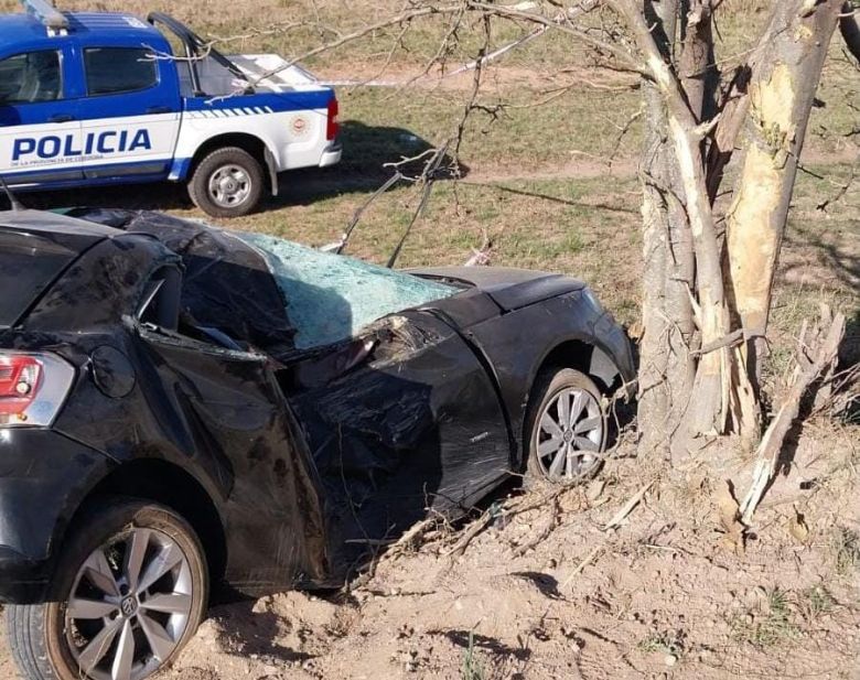
[[[353,337],[388,314],[450,298],[458,289],[261,234],[235,234],[267,259],[295,326],[295,346]]]

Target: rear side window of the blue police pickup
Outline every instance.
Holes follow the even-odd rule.
[[[159,82],[158,64],[151,50],[87,47],[84,67],[90,96],[139,91],[154,87]]]

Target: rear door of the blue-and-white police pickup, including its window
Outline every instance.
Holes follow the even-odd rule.
[[[175,66],[151,48],[80,45],[87,180],[166,177],[181,125]]]

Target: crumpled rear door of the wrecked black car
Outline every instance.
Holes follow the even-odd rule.
[[[211,265],[213,276],[219,267]],[[138,385],[152,424],[144,431],[159,432],[143,436],[223,494],[226,579],[234,587],[258,593],[322,581],[319,485],[271,359],[226,333],[176,322],[180,306],[190,317],[205,314],[189,290],[204,284],[205,269],[192,262],[184,279],[161,270],[143,296]]]

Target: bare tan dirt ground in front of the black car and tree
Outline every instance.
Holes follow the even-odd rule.
[[[462,554],[476,525],[438,525],[343,592],[216,607],[162,679],[860,678],[857,429],[807,425],[740,540],[742,460],[627,447],[588,486],[496,498]]]

